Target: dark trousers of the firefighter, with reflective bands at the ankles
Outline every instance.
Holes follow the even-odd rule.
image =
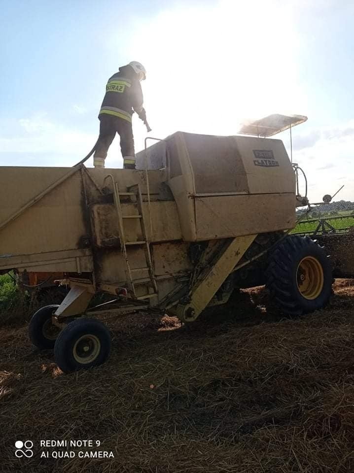
[[[100,135],[93,156],[95,168],[104,168],[107,151],[116,133],[120,136],[124,168],[135,168],[134,137],[131,122],[123,118],[102,113],[100,119]]]

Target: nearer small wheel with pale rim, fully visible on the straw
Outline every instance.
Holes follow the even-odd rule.
[[[106,325],[88,318],[68,324],[54,346],[55,361],[65,373],[102,365],[109,352],[110,334]]]

